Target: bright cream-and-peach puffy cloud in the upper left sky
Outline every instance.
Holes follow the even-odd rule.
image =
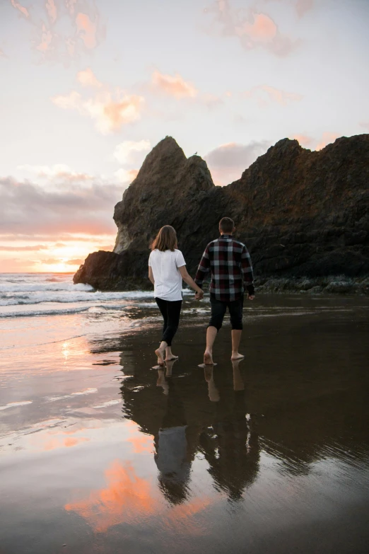
[[[92,77],[91,74],[87,79]],[[81,79],[86,81],[86,71],[82,77],[81,72],[78,75],[80,82]],[[76,110],[81,115],[90,117],[98,131],[109,134],[141,118],[144,98],[127,94],[120,89],[113,94],[105,87],[91,98],[83,98],[80,93],[71,91],[66,96],[54,96],[52,102],[63,110]]]

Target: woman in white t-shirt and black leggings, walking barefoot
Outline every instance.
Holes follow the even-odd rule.
[[[177,249],[177,233],[170,225],[163,226],[151,246],[148,258],[148,278],[154,286],[154,297],[164,319],[163,337],[158,350],[158,364],[176,359],[172,354],[172,339],[180,323],[182,307],[182,279],[197,292],[197,299],[204,293],[189,276],[185,258]]]

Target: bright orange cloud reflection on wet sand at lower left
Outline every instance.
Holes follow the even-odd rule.
[[[151,483],[139,478],[131,463],[113,461],[105,471],[105,479],[107,487],[90,492],[86,500],[66,504],[65,509],[82,516],[99,533],[156,512]]]

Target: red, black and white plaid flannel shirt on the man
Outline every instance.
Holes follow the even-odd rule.
[[[206,246],[195,277],[202,288],[207,273],[211,270],[210,294],[216,300],[238,300],[247,288],[254,294],[252,265],[245,244],[232,235],[222,235]]]

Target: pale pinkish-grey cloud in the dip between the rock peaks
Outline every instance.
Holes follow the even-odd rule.
[[[250,144],[221,144],[204,156],[216,185],[228,185],[239,179],[259,156],[265,154],[271,142],[259,141]]]

